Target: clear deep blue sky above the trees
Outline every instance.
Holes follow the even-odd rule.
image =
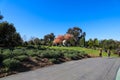
[[[80,27],[86,39],[120,40],[120,0],[0,0],[4,21],[26,39]]]

